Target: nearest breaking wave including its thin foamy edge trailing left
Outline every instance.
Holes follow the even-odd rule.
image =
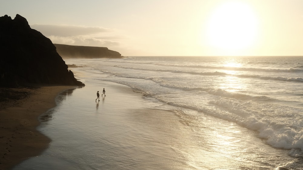
[[[289,154],[295,158],[303,156],[303,129],[296,129],[292,126],[275,122],[274,119],[266,119],[258,110],[252,110],[251,107],[246,106],[247,103],[241,104],[233,100],[212,100],[209,101],[209,104],[215,105],[217,106],[216,108],[220,109],[211,110],[203,107],[189,106],[184,103],[159,100],[178,108],[196,110],[237,123],[238,125],[257,131],[259,137],[266,139],[266,142],[272,147],[289,149]],[[190,117],[183,109],[175,110],[175,112],[178,112],[178,116],[181,118]],[[303,117],[297,119],[303,119]],[[189,126],[192,125],[191,120],[183,121]]]

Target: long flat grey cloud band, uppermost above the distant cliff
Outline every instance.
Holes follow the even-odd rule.
[[[102,27],[85,27],[85,26],[74,26],[74,25],[31,25],[32,29],[41,32],[45,36],[79,36],[88,34],[100,34],[106,32],[112,32],[112,29]]]

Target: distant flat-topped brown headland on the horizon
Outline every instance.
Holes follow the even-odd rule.
[[[108,50],[107,47],[88,47],[54,44],[62,58],[122,58],[117,51]]]

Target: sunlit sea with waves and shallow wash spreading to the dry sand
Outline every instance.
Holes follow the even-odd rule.
[[[303,57],[64,60],[85,87],[40,117],[52,142],[15,170],[303,169]]]

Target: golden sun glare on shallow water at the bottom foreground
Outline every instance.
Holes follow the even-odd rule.
[[[205,130],[208,138],[198,142],[200,147],[187,148],[187,151],[182,152],[188,158],[188,165],[193,169],[212,167],[214,170],[226,170],[238,168],[235,162],[245,161],[241,152],[246,152],[246,150],[240,148],[241,145],[244,147],[245,144],[236,137],[242,136],[242,132],[235,128],[231,124],[227,129]]]

